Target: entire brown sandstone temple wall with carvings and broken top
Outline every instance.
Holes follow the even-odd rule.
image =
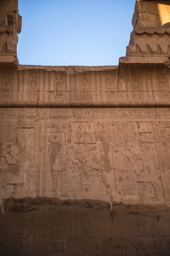
[[[0,0],[0,255],[170,256],[170,1],[132,23],[118,66],[20,65]]]

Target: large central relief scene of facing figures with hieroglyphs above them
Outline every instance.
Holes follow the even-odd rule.
[[[54,123],[48,128],[52,197],[112,191],[134,202],[164,201],[152,124]],[[71,141],[71,143],[67,143]]]

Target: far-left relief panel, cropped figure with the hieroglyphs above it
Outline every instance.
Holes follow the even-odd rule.
[[[34,176],[34,129],[17,129],[13,123],[5,124],[3,129],[5,134],[1,145],[1,189],[10,200],[13,201],[19,196],[25,198],[29,204],[33,192],[30,179]]]

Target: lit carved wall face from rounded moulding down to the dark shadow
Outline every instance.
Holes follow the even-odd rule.
[[[3,207],[170,204],[170,109],[7,108],[0,116]]]

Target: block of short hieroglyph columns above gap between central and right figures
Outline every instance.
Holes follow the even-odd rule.
[[[95,122],[96,141],[108,143],[135,142],[137,134],[134,123]]]

